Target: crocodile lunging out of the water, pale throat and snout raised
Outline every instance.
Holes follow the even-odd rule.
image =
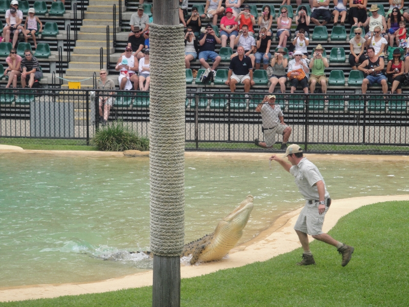
[[[190,264],[197,261],[220,260],[235,247],[243,234],[248,217],[253,210],[253,196],[248,195],[241,204],[217,224],[216,230],[196,241],[185,244],[182,256],[192,255]]]

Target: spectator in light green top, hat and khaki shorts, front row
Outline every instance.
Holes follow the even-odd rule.
[[[324,94],[327,94],[327,83],[328,79],[325,76],[324,70],[325,68],[329,67],[328,60],[325,56],[323,56],[324,48],[321,44],[318,44],[315,47],[314,54],[312,55],[312,59],[309,64],[309,68],[311,69],[310,75],[310,93],[314,93],[315,91],[315,84],[316,82],[321,84],[321,90]]]

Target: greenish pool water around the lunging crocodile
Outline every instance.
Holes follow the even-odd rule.
[[[186,243],[247,194],[254,209],[240,243],[303,205],[289,173],[252,159],[186,159]],[[333,199],[409,192],[404,161],[314,162]],[[152,262],[126,251],[148,249],[148,158],[0,154],[0,288],[137,273]]]

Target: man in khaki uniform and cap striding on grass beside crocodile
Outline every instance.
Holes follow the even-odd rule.
[[[284,161],[284,158],[287,158],[290,164]],[[297,262],[297,265],[315,265],[309,246],[308,234],[314,239],[336,247],[337,251],[342,255],[341,265],[343,267],[348,265],[354,248],[335,240],[322,230],[325,214],[331,206],[331,199],[320,170],[303,156],[303,149],[297,144],[288,146],[282,157],[272,155],[270,161],[272,160],[278,162],[294,176],[298,190],[306,200],[305,207],[301,210],[294,226],[303,248],[303,260]]]

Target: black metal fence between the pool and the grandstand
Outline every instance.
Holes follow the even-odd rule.
[[[2,143],[92,144],[103,124],[104,103],[111,104],[108,125],[121,120],[149,137],[149,92],[31,90],[0,91]],[[279,151],[263,141],[256,112],[265,93],[188,93],[186,149]],[[284,122],[292,129],[289,143],[309,152],[409,153],[409,96],[362,94],[276,94]],[[107,99],[103,99],[107,98]],[[99,101],[101,111],[99,111]],[[166,101],[164,101],[166,103]]]

